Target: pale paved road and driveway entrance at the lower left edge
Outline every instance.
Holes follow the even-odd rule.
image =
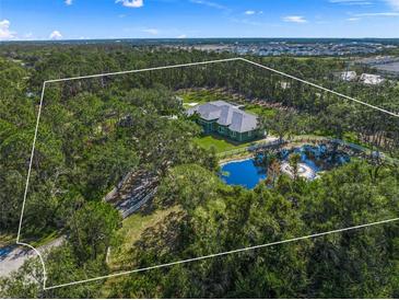
[[[56,239],[50,243],[39,246],[39,253],[59,246],[63,242],[63,238]],[[27,258],[36,256],[36,252],[27,246],[10,245],[0,247],[0,276],[9,276],[11,272],[17,270]]]

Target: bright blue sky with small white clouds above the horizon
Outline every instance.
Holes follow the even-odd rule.
[[[399,0],[0,0],[0,41],[399,37]]]

